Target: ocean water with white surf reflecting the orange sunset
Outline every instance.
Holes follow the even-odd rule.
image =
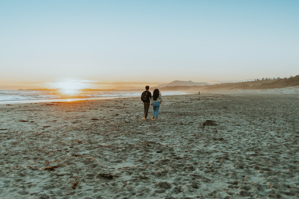
[[[61,92],[41,90],[0,90],[0,104],[73,101],[84,99],[108,99],[138,97],[142,91],[88,91]],[[162,92],[161,95],[183,95],[185,92]]]

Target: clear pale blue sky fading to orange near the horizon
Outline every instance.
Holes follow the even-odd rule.
[[[0,1],[0,89],[295,76],[298,10],[297,0]]]

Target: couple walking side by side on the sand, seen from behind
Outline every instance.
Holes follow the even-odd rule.
[[[147,113],[149,111],[150,105],[153,105],[153,117],[152,119],[158,119],[158,113],[160,108],[160,103],[162,103],[162,95],[159,89],[155,89],[153,96],[149,91],[150,86],[145,86],[145,91],[141,94],[141,101],[143,102],[144,107],[144,118],[147,120]],[[155,118],[156,117],[156,118]]]

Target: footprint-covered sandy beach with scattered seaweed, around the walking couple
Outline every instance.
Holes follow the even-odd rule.
[[[0,198],[299,197],[298,94],[163,99],[1,104]]]

